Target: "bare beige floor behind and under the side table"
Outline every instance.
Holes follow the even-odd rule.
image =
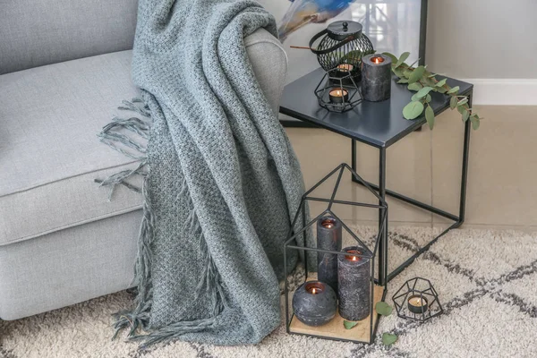
[[[479,107],[485,117],[472,132],[465,227],[537,231],[537,107]],[[341,162],[350,163],[350,140],[320,129],[288,128],[307,187]],[[388,189],[457,213],[463,125],[458,113],[437,118],[388,149]],[[377,182],[377,149],[358,145],[358,174]],[[320,188],[327,195],[330,188]],[[343,181],[341,198],[371,201],[362,188]],[[448,221],[398,200],[388,200],[390,225],[445,226]],[[326,208],[323,207],[323,208]],[[313,209],[321,209],[314,205]],[[337,215],[372,221],[371,209],[337,208]]]

